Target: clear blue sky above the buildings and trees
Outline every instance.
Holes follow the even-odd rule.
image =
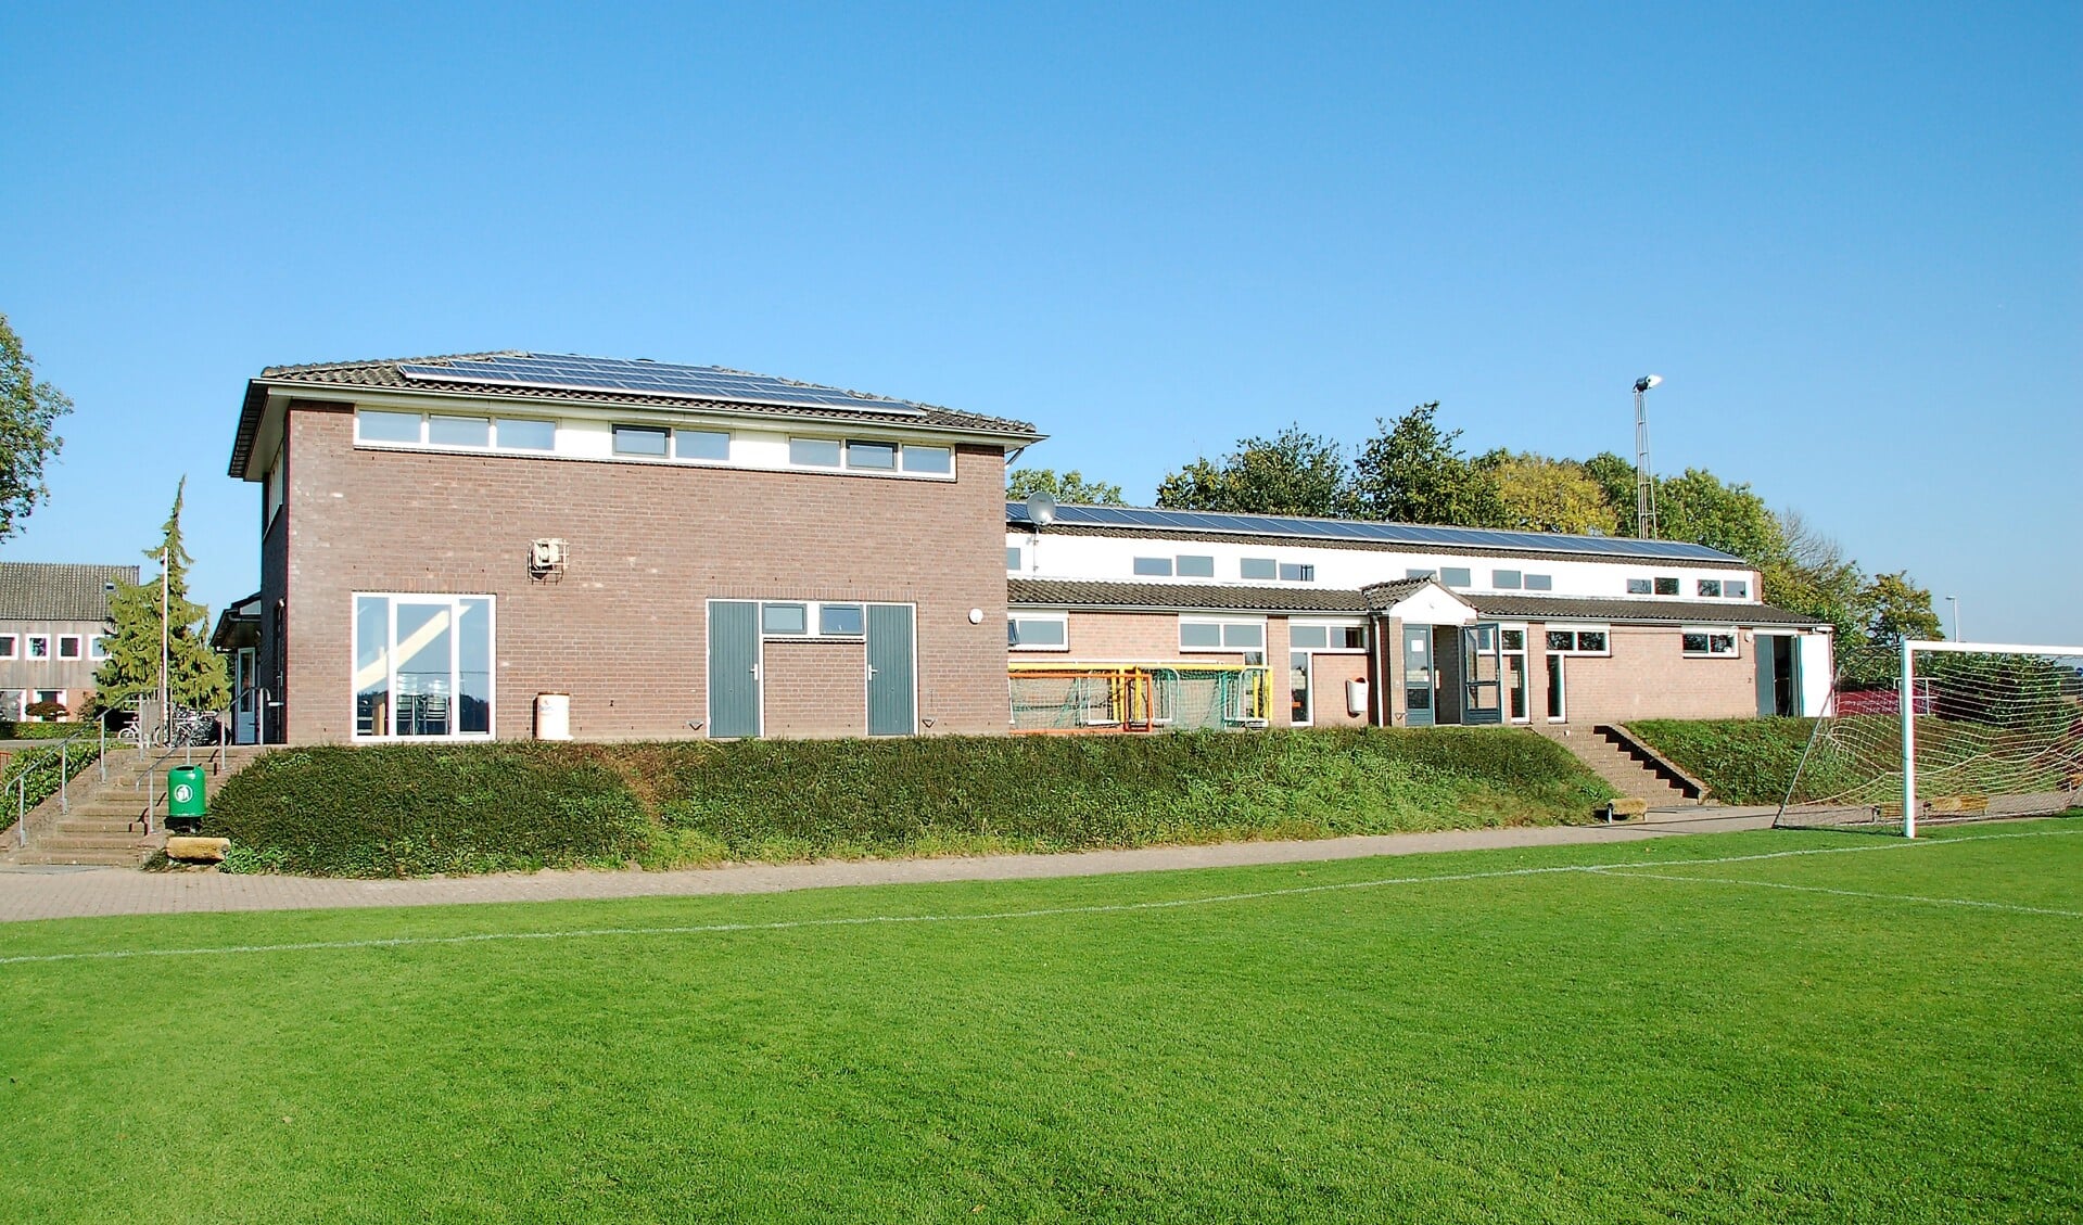
[[[1035,421],[1135,500],[1441,400],[1748,479],[1971,638],[2083,640],[2083,8],[0,15],[0,310],[79,404],[0,556],[196,594],[265,365],[535,348]],[[1939,600],[1939,608],[1946,604]]]

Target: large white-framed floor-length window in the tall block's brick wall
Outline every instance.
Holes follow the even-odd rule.
[[[354,735],[492,735],[492,596],[354,598]]]

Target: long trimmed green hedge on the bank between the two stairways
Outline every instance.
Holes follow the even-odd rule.
[[[1533,825],[1610,796],[1508,729],[381,746],[269,754],[204,831],[233,871],[419,875]]]

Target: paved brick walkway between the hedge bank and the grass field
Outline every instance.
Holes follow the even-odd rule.
[[[731,865],[671,873],[542,871],[487,877],[410,881],[344,881],[325,877],[244,877],[223,873],[137,873],[125,869],[0,871],[0,923],[81,919],[94,915],[181,915],[202,910],[319,910],[340,906],[452,906],[465,902],[562,902],[583,898],[677,898],[708,894],[777,894],[837,885],[919,881],[1017,881],[1091,877],[1202,867],[1308,863],[1375,854],[1491,850],[1504,846],[1566,846],[1639,842],[1675,833],[1762,829],[1773,808],[1673,808],[1635,825],[1539,825],[1516,829],[1454,829],[1446,833],[1383,833],[1314,842],[1223,842],[1216,846],[1146,846],[1079,854],[989,854],[975,858],[879,858],[789,865]]]

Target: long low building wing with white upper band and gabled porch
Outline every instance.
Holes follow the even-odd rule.
[[[1006,506],[1012,717],[1148,725],[1816,715],[1829,625],[1679,542]]]

